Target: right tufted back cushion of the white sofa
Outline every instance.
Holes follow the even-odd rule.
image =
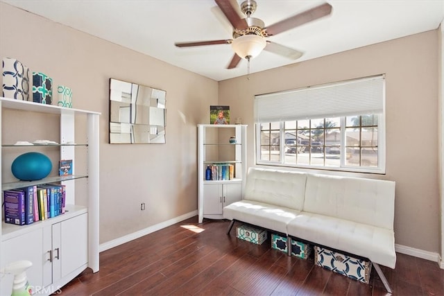
[[[395,182],[307,174],[304,211],[393,230]]]

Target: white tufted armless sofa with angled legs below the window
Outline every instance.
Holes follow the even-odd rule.
[[[250,168],[223,216],[395,268],[395,182]]]

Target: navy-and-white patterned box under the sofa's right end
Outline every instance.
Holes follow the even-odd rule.
[[[317,245],[314,246],[314,262],[327,270],[332,270],[366,284],[368,284],[372,270],[370,261],[356,259]]]

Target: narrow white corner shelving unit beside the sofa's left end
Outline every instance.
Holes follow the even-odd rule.
[[[198,125],[198,222],[203,218],[222,219],[223,207],[241,200],[246,176],[247,125]],[[230,143],[230,137],[236,143]],[[234,166],[232,180],[205,180],[212,164]]]

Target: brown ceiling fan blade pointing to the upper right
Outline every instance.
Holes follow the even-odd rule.
[[[331,12],[332,6],[329,3],[323,3],[320,6],[316,6],[306,10],[305,12],[301,12],[298,15],[293,15],[293,17],[283,19],[282,21],[267,27],[266,33],[268,35],[276,35],[291,28],[308,23],[309,21],[314,21],[315,19],[330,15]]]

